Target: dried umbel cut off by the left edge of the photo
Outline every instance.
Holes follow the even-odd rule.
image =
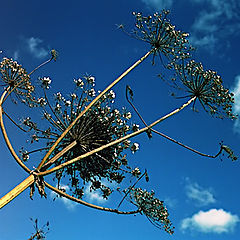
[[[18,99],[33,106],[35,102],[32,93],[34,86],[30,82],[30,76],[22,65],[9,58],[3,58],[0,63],[1,78],[4,86],[9,87],[9,92],[13,90]]]

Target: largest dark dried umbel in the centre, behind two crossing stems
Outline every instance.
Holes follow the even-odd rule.
[[[41,78],[41,80],[42,82],[44,80],[44,83],[51,82],[50,78]],[[83,79],[75,79],[74,83],[77,90],[70,94],[69,99],[65,99],[58,92],[55,94],[53,105],[50,105],[46,94],[37,100],[39,106],[43,109],[43,117],[47,120],[48,127],[46,130],[39,129],[37,124],[33,123],[30,118],[23,120],[23,124],[29,130],[34,130],[31,142],[44,138],[47,140],[47,146],[52,146],[69,124],[92,101],[96,94],[94,89],[95,78],[93,76],[85,76]],[[43,89],[48,89],[49,84],[42,84],[42,87]],[[110,90],[76,122],[53,151],[52,156],[57,155],[73,142],[75,142],[75,145],[54,162],[55,166],[91,152],[137,130],[136,126],[138,125],[130,126],[128,124],[131,119],[130,112],[125,108],[118,110],[113,107],[114,99],[115,93]],[[81,198],[85,183],[91,183],[91,189],[101,190],[103,197],[107,198],[112,190],[103,184],[103,179],[105,182],[107,180],[119,184],[125,178],[126,173],[135,177],[139,176],[139,174],[136,174],[136,171],[132,171],[132,168],[128,166],[125,154],[126,150],[134,153],[138,149],[139,144],[132,143],[130,140],[125,140],[118,145],[105,148],[65,167],[63,170],[57,171],[56,179],[58,180],[58,185],[60,187],[64,176],[68,176],[74,196]],[[26,151],[21,150],[21,153],[25,159],[28,158]]]

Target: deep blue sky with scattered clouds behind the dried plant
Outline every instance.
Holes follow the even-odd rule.
[[[5,1],[1,4],[2,56],[13,57],[29,71],[47,59],[52,48],[59,59],[38,71],[34,77],[50,76],[54,92],[71,92],[74,78],[85,73],[96,77],[96,86],[104,89],[128,66],[148,51],[143,42],[131,39],[117,29],[133,26],[133,11],[152,14],[171,9],[170,19],[177,29],[190,33],[197,47],[194,57],[206,69],[216,70],[224,85],[234,91],[234,110],[240,114],[238,0],[122,0],[122,1]],[[131,72],[118,87],[118,106],[127,105],[125,86],[134,90],[134,103],[147,122],[152,122],[180,106],[183,99],[170,96],[171,89],[157,75],[164,72],[160,64],[147,60]],[[9,104],[9,112],[24,109]],[[130,108],[130,106],[128,106]],[[135,118],[138,121],[137,118]],[[14,146],[23,138],[9,124]],[[199,106],[190,108],[161,123],[157,129],[204,153],[215,154],[223,140],[240,155],[240,122],[214,119]],[[30,217],[41,224],[50,221],[47,239],[177,239],[236,240],[240,232],[240,207],[237,183],[239,160],[208,159],[189,152],[160,136],[136,138],[140,150],[132,155],[133,165],[147,168],[156,196],[165,201],[175,234],[156,229],[141,215],[118,216],[99,212],[64,199],[47,200],[37,194],[29,199],[29,190],[1,210],[0,239],[27,239],[34,231]],[[7,193],[26,177],[11,159],[3,139],[1,147],[0,192]],[[37,165],[37,163],[36,163]],[[67,188],[67,186],[66,186]],[[113,206],[114,198],[102,200],[86,194],[89,202]]]

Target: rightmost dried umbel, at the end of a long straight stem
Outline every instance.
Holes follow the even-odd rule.
[[[204,70],[202,64],[194,60],[175,67],[186,87],[187,97],[196,97],[204,110],[213,116],[236,118],[232,113],[234,94],[223,86],[222,78],[215,71]]]

